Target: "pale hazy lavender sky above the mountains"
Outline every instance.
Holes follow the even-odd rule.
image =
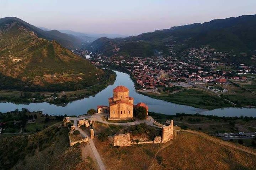
[[[0,18],[49,29],[136,35],[256,14],[256,0],[0,0]]]

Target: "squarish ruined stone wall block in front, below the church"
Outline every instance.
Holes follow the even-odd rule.
[[[113,146],[130,146],[130,134],[109,136],[108,142]]]

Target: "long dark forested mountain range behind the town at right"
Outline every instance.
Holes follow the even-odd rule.
[[[255,30],[256,15],[243,15],[156,30],[128,38],[100,38],[92,42],[91,46],[108,56],[147,57],[157,51],[168,54],[168,45],[174,45],[175,51],[209,45],[224,52],[255,53]]]

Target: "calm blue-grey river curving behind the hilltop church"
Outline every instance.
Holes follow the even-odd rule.
[[[113,85],[109,85],[106,89],[102,90],[95,96],[84,98],[81,100],[68,103],[66,106],[56,106],[49,103],[30,103],[30,104],[14,104],[11,102],[1,102],[0,112],[14,111],[15,109],[27,108],[30,111],[43,111],[44,114],[49,115],[82,115],[87,113],[90,108],[97,108],[97,105],[108,106],[108,98],[113,96],[112,90],[114,87],[124,85],[130,89],[129,96],[134,98],[134,104],[144,102],[149,106],[150,112],[163,113],[163,114],[176,114],[176,113],[199,113],[207,115],[218,116],[252,116],[256,117],[256,108],[220,108],[212,111],[205,109],[198,109],[191,106],[170,103],[162,100],[157,100],[138,94],[134,89],[134,83],[129,75],[122,72],[114,71],[117,74],[116,81]]]

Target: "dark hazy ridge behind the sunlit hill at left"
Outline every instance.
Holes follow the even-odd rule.
[[[66,48],[79,48],[82,44],[82,41],[75,36],[60,33],[57,30],[42,30],[16,17],[0,18],[0,24],[8,24],[12,22],[21,23],[27,29],[33,31],[39,38],[44,38],[49,41],[55,40]]]

